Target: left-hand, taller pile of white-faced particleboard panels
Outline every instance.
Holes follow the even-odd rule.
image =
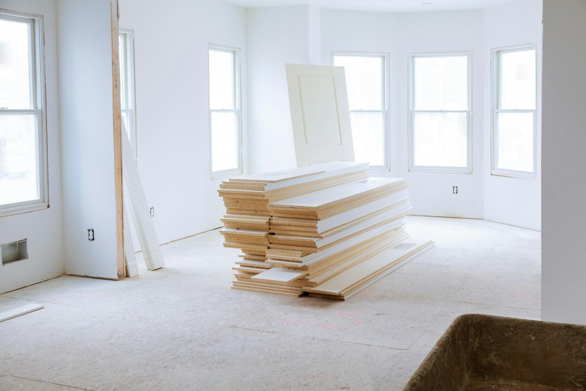
[[[271,268],[265,263],[268,250],[268,202],[318,191],[342,183],[367,178],[368,164],[329,162],[298,169],[244,175],[220,185],[226,215],[222,219],[224,246],[243,251],[236,262],[234,288],[248,290],[247,280]]]

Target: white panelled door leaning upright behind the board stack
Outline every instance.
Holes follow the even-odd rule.
[[[344,67],[285,68],[297,166],[354,161]]]

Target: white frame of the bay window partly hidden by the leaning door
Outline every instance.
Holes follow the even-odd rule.
[[[371,172],[388,172],[390,171],[390,135],[389,135],[389,53],[383,52],[353,52],[346,50],[335,50],[331,54],[332,66],[334,64],[335,56],[356,56],[356,57],[380,57],[383,60],[383,66],[381,67],[381,107],[383,110],[350,110],[350,113],[384,113],[384,165],[371,165],[369,171]]]

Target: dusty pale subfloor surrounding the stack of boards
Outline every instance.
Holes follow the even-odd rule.
[[[409,217],[435,247],[348,301],[230,289],[217,230],[122,281],[62,276],[0,295],[0,389],[402,389],[459,314],[540,318],[540,234]]]

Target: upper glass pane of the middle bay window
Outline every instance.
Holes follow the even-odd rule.
[[[413,57],[414,110],[468,110],[468,57]]]

